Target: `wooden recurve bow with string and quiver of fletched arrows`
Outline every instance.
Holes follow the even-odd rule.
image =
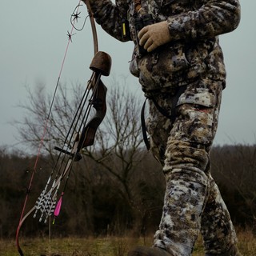
[[[47,222],[47,219],[51,215],[55,218],[58,217],[62,206],[62,199],[65,194],[67,182],[70,177],[72,165],[74,162],[78,162],[82,159],[82,149],[86,146],[94,144],[95,134],[98,130],[98,126],[102,123],[103,118],[106,115],[106,86],[102,82],[102,75],[108,76],[111,68],[111,58],[109,54],[98,51],[98,37],[96,26],[94,22],[94,16],[90,7],[89,0],[80,0],[78,7],[81,6],[80,2],[86,4],[90,24],[94,40],[94,58],[90,63],[90,70],[92,70],[91,77],[86,85],[86,90],[82,94],[81,101],[78,104],[78,109],[74,114],[74,118],[70,124],[70,128],[66,134],[66,138],[63,140],[62,146],[54,146],[54,150],[58,152],[58,158],[54,163],[54,167],[50,173],[50,177],[46,182],[46,186],[42,190],[42,193],[38,196],[34,206],[24,213],[26,200],[22,210],[22,216],[18,223],[16,231],[16,245],[18,247],[18,253],[24,255],[21,247],[19,246],[19,231],[23,222],[30,214],[34,213],[34,218],[38,218],[39,222]],[[78,18],[78,8],[76,8],[76,14],[73,14],[74,19]],[[72,26],[72,30],[74,26]],[[71,33],[69,35],[69,42],[71,42]],[[64,59],[66,58],[66,53]],[[63,66],[63,62],[62,62]],[[61,68],[62,70],[62,68]],[[60,75],[58,77],[59,82]],[[58,83],[57,83],[58,85]],[[54,95],[56,93],[56,89]],[[91,117],[91,110],[94,108],[96,113]],[[50,106],[51,109],[51,106]],[[48,115],[49,118],[50,114]],[[34,167],[34,170],[36,168]],[[33,176],[34,177],[34,172]],[[32,179],[30,180],[31,187]],[[61,193],[60,193],[61,191]],[[58,195],[60,194],[60,195]],[[59,197],[59,198],[58,198]],[[23,216],[24,215],[24,216]]]

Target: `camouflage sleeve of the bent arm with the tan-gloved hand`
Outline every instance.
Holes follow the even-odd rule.
[[[172,41],[213,38],[234,30],[240,22],[238,0],[204,0],[197,10],[170,16]]]

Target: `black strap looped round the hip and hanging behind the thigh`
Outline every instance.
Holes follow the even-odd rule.
[[[142,112],[141,112],[141,122],[142,122],[142,135],[143,135],[143,140],[146,144],[146,149],[150,150],[150,142],[147,138],[146,135],[146,123],[145,123],[145,106],[146,106],[146,100],[150,99],[154,102],[154,106],[158,109],[158,111],[164,115],[166,118],[170,118],[171,122],[171,128],[174,126],[174,121],[176,119],[176,106],[178,103],[179,97],[182,95],[182,93],[186,90],[186,86],[179,86],[178,91],[174,96],[172,97],[171,100],[171,113],[169,114],[165,109],[163,109],[161,106],[158,105],[158,102],[154,99],[154,96],[147,97],[143,103],[142,106]]]

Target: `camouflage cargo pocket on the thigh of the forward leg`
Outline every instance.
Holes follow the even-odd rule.
[[[220,86],[215,93],[208,88],[189,88],[180,96],[177,122],[171,131],[175,139],[212,144],[218,126],[221,92]]]

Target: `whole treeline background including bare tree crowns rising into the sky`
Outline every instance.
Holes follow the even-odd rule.
[[[23,236],[45,236],[49,231],[52,236],[143,236],[158,228],[165,178],[162,167],[144,150],[138,114],[143,101],[127,89],[126,81],[113,83],[108,90],[106,117],[98,127],[94,146],[84,148],[82,160],[74,162],[55,224],[39,223],[31,214],[20,230]],[[54,146],[70,147],[66,134],[81,106],[83,90],[82,85],[73,90],[62,86],[51,114],[51,97],[44,86],[28,90],[28,102],[20,106],[25,116],[15,123],[19,141],[30,152],[38,152],[47,116],[48,129],[39,161],[28,156],[28,150],[10,153],[0,147],[0,238],[14,238],[26,195],[24,214],[45,188],[56,160]],[[212,174],[234,223],[254,227],[256,146],[215,146],[210,157]],[[32,174],[34,181],[28,190]],[[61,192],[62,188],[58,198]],[[48,223],[52,221],[51,217]]]

